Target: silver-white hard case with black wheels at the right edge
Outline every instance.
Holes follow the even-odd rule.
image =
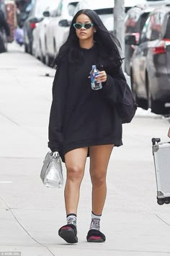
[[[157,203],[170,203],[170,141],[152,138],[153,159],[156,172]]]

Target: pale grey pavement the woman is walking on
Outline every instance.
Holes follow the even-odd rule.
[[[170,205],[156,203],[151,138],[169,141],[169,122],[138,110],[123,125],[123,146],[115,148],[107,173],[101,231],[107,241],[87,243],[91,221],[89,159],[81,185],[78,244],[66,244],[63,188],[40,180],[48,149],[48,119],[55,70],[9,45],[0,54],[0,252],[22,256],[168,256]],[[66,169],[63,164],[64,178]]]

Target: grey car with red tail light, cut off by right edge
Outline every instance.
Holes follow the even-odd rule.
[[[138,45],[130,64],[133,94],[139,107],[156,114],[169,113],[170,104],[170,6],[155,9],[149,15],[139,43],[135,35],[126,37],[129,45]]]

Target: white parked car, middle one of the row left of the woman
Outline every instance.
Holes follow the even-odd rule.
[[[50,22],[51,17],[49,13],[53,12],[57,8],[59,0],[49,1],[48,9],[43,12],[42,22],[38,22],[35,25],[35,30],[32,32],[33,42],[32,42],[32,54],[35,58],[40,58],[42,62],[45,63],[46,54],[46,27]]]

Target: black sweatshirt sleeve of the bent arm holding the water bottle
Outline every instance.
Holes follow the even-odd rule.
[[[127,81],[122,72],[122,69],[118,69],[117,72],[108,72],[107,81],[104,83],[104,87],[102,89],[103,97],[106,98],[110,103],[116,103],[119,101],[120,95],[120,84],[127,85]]]

